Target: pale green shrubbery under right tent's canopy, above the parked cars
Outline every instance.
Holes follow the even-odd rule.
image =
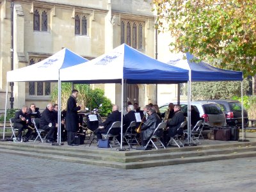
[[[249,81],[243,81],[243,94],[248,90]],[[188,94],[188,86],[182,88],[182,93]],[[232,99],[234,95],[241,95],[241,82],[239,81],[212,81],[212,82],[192,82],[191,99]]]

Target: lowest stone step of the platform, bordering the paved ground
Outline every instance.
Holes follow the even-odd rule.
[[[42,159],[54,159],[56,161],[68,161],[72,163],[81,163],[81,164],[93,164],[97,166],[107,166],[112,168],[120,168],[120,169],[135,169],[135,168],[148,168],[154,166],[165,166],[172,164],[184,164],[184,163],[200,163],[204,161],[217,161],[223,159],[236,159],[243,157],[255,157],[255,151],[247,151],[247,152],[234,152],[231,154],[214,154],[208,156],[196,156],[196,157],[182,157],[174,158],[174,159],[157,159],[150,161],[138,161],[138,162],[115,162],[115,161],[104,161],[99,159],[86,159],[81,157],[70,157],[70,156],[58,156],[54,154],[42,154],[38,152],[26,152],[26,151],[18,151],[18,150],[10,150],[0,148],[0,152],[15,154],[20,156],[28,156],[28,157],[37,157]]]

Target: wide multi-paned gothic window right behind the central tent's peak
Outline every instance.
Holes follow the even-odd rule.
[[[134,49],[144,49],[145,22],[121,20],[121,44],[127,44]]]

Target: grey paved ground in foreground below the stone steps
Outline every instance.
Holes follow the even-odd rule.
[[[255,191],[256,159],[118,170],[1,154],[0,191]]]

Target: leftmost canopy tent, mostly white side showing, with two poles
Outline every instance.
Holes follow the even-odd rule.
[[[6,124],[6,110],[7,110],[7,97],[8,97],[8,82],[26,82],[26,81],[58,81],[58,104],[61,106],[61,86],[60,86],[60,69],[68,68],[88,60],[79,56],[78,54],[70,51],[67,48],[56,52],[49,58],[42,60],[28,67],[17,68],[7,72],[6,81],[6,101],[5,101],[5,115],[4,115],[4,131]],[[33,72],[33,76],[29,75]],[[60,125],[60,109],[58,111],[58,124]],[[59,126],[60,129],[60,126]],[[60,130],[58,129],[58,132]],[[59,134],[60,135],[60,134]],[[59,137],[60,138],[60,137]],[[4,139],[4,132],[3,132]]]

